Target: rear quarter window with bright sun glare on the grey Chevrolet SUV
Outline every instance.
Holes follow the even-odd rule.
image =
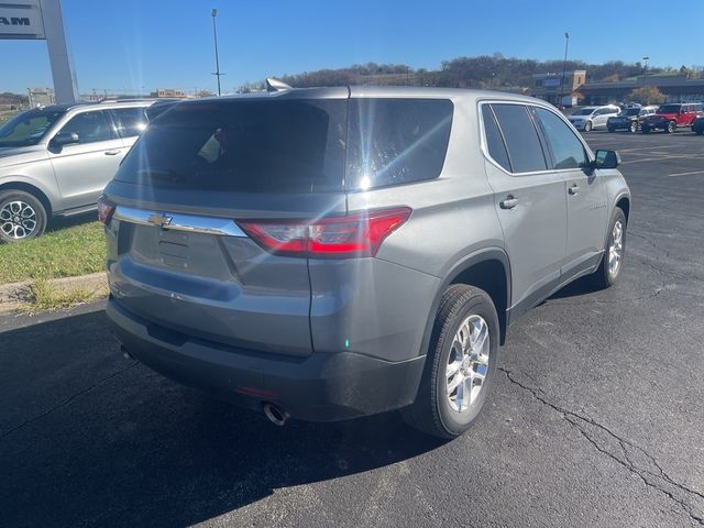
[[[447,99],[351,99],[348,189],[437,178],[448,151],[452,111]]]

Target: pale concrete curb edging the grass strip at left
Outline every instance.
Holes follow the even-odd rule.
[[[16,311],[34,301],[34,280],[0,284],[0,314]],[[57,293],[67,294],[74,290],[91,293],[91,299],[108,295],[108,277],[105,272],[80,275],[78,277],[52,278],[46,284]]]

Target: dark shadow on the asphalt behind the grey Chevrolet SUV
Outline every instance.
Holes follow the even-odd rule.
[[[185,526],[443,442],[397,414],[277,428],[119,352],[102,311],[0,333],[4,526]]]

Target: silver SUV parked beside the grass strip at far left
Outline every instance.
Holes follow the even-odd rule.
[[[33,239],[52,217],[96,209],[144,130],[152,101],[57,105],[0,128],[0,243]]]

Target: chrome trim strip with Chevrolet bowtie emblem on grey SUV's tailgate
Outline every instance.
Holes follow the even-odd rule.
[[[147,211],[133,207],[118,206],[113,218],[120,221],[152,226],[191,233],[219,234],[222,237],[246,237],[234,220],[217,217],[200,217],[170,212]]]

